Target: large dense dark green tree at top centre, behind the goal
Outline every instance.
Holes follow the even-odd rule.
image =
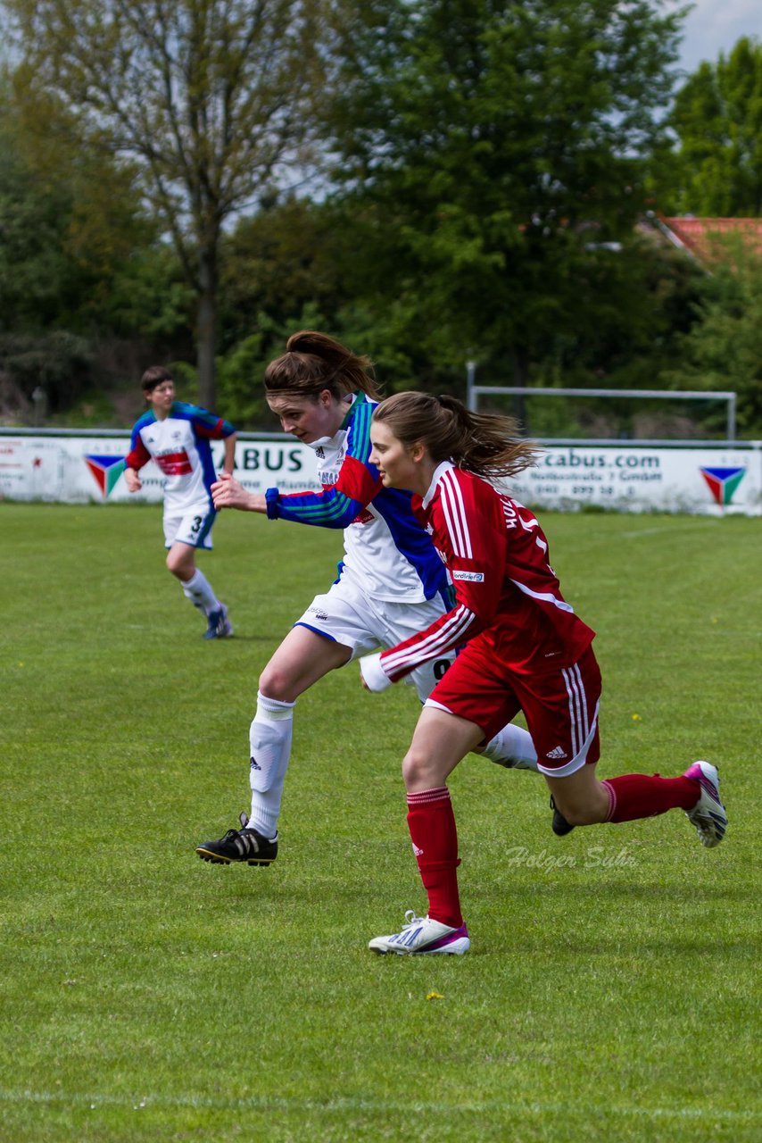
[[[359,288],[406,309],[432,360],[473,354],[523,382],[559,333],[595,328],[580,283],[619,243],[626,257],[684,13],[367,0],[358,14],[336,174],[372,266]]]

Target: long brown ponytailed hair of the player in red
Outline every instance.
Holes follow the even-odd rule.
[[[536,463],[539,449],[519,437],[512,417],[471,413],[455,397],[394,393],[374,411],[406,448],[420,441],[432,461],[452,461],[480,477],[512,477]]]

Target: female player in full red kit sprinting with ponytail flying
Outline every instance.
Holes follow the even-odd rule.
[[[532,463],[531,445],[511,439],[514,432],[507,418],[426,393],[398,393],[374,413],[370,462],[385,488],[414,491],[414,511],[450,570],[456,604],[425,631],[363,657],[363,682],[383,690],[466,645],[426,700],[402,764],[428,912],[409,913],[400,933],[372,940],[377,952],[468,949],[446,783],[474,744],[520,709],[539,769],[570,824],[628,822],[680,808],[708,847],[722,840],[728,824],[717,772],[708,762],[674,778],[596,778],[601,676],[594,632],[563,599],[535,514],[489,482]]]

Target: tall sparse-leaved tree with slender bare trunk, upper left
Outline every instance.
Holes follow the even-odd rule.
[[[87,145],[138,165],[198,299],[215,403],[219,243],[235,211],[304,159],[320,0],[8,0],[27,101],[62,99]]]

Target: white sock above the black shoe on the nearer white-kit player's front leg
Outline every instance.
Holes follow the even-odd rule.
[[[296,703],[282,703],[257,693],[257,713],[249,732],[251,814],[248,828],[265,838],[274,838],[278,832],[283,783],[291,757],[295,706]]]

